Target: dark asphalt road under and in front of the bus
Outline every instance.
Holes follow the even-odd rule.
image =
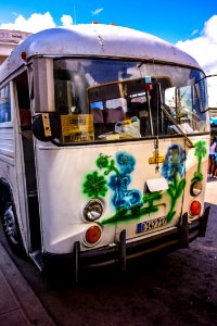
[[[60,326],[217,325],[216,190],[217,180],[208,181],[205,238],[162,258],[129,263],[125,274],[115,266],[86,269],[73,286],[62,278],[49,281],[31,262],[12,258]]]

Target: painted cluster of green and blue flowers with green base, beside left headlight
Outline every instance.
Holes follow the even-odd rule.
[[[99,171],[86,176],[84,193],[88,197],[104,197],[107,189],[113,191],[111,202],[115,208],[115,214],[102,224],[116,223],[139,218],[158,210],[154,201],[162,198],[161,192],[145,193],[143,197],[137,189],[129,189],[130,174],[135,171],[136,160],[127,152],[118,152],[116,160],[100,154],[95,161]],[[103,173],[100,175],[99,173]],[[110,178],[106,179],[105,176]]]

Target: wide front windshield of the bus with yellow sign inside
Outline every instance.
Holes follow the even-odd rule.
[[[138,61],[54,59],[62,143],[208,130],[204,74]],[[170,121],[162,105],[174,118]]]

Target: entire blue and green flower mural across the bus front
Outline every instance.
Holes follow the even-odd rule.
[[[194,155],[197,158],[197,170],[192,180],[202,180],[202,159],[206,155],[206,142],[197,141]],[[162,165],[162,175],[168,181],[167,195],[169,196],[169,209],[167,223],[171,222],[176,214],[176,205],[186,187],[186,160],[184,149],[179,145],[173,145]],[[105,197],[107,190],[112,190],[111,203],[115,208],[112,216],[101,220],[102,224],[127,222],[151,215],[158,211],[161,199],[165,192],[142,192],[130,189],[131,174],[136,167],[136,159],[127,152],[117,152],[116,158],[100,154],[95,160],[97,171],[86,176],[82,192],[89,198]],[[145,179],[144,179],[145,183]]]

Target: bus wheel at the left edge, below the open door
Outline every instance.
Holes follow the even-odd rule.
[[[23,256],[25,250],[24,250],[21,233],[17,227],[15,209],[13,208],[12,202],[10,201],[7,201],[4,204],[2,225],[10,248],[18,256]]]

